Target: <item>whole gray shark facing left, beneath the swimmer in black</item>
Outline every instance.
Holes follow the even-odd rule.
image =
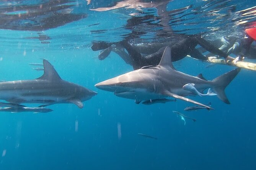
[[[141,69],[105,80],[95,86],[101,90],[114,92],[122,98],[148,101],[159,98],[173,97],[212,109],[205,104],[188,99],[191,91],[183,89],[188,83],[194,83],[198,91],[212,88],[223,102],[230,104],[225,95],[225,88],[235,78],[240,69],[227,72],[212,81],[176,71],[171,63],[171,48],[166,47],[158,66],[144,66]]]

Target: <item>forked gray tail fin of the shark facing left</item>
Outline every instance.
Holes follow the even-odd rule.
[[[217,93],[218,98],[220,98],[224,103],[230,104],[224,90],[240,70],[240,68],[234,69],[212,80],[214,83],[214,92]]]

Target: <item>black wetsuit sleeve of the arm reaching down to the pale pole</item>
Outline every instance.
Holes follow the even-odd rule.
[[[214,53],[215,55],[221,56],[223,58],[227,58],[228,55],[226,53],[220,51],[217,47],[207,42],[204,38],[197,36],[196,40],[199,45],[201,45],[203,48],[210,51],[211,53]]]

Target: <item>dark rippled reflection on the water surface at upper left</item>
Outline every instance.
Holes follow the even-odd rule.
[[[0,29],[41,31],[63,26],[86,18],[87,14],[73,14],[70,0],[50,0],[33,5],[0,7]]]

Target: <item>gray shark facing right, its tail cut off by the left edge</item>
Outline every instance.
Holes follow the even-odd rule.
[[[62,80],[54,67],[43,60],[44,74],[34,80],[0,82],[0,99],[10,103],[42,103],[48,106],[56,103],[73,103],[79,108],[83,101],[97,93],[80,85]]]

